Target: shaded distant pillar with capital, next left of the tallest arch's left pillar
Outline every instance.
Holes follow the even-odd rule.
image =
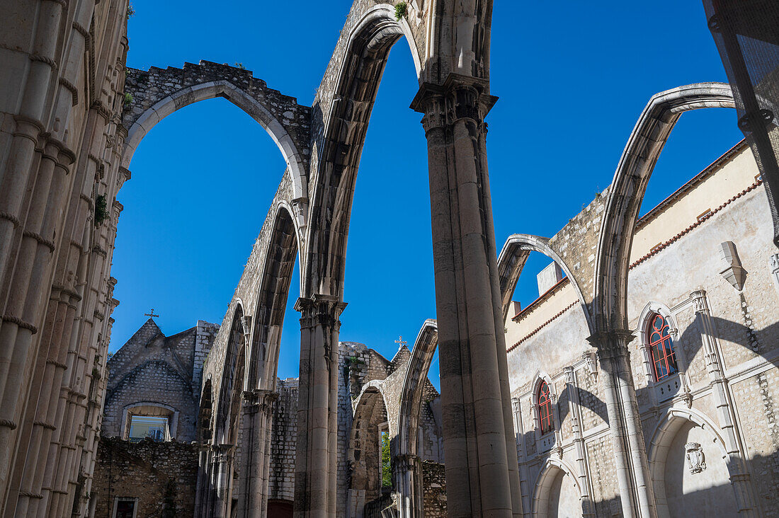
[[[265,516],[268,506],[268,463],[273,425],[273,401],[278,393],[253,389],[243,393],[244,432],[241,435],[241,456],[244,457],[241,477],[241,499],[238,516]]]

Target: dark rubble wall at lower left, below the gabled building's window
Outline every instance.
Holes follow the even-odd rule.
[[[113,516],[115,498],[136,498],[136,516],[194,516],[198,446],[100,438],[94,516]],[[170,514],[164,514],[170,513]]]

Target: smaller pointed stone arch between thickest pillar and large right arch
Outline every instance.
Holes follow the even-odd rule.
[[[587,326],[590,328],[591,333],[593,331],[592,316],[587,310],[587,303],[584,300],[581,288],[576,282],[576,277],[573,277],[568,264],[562,260],[562,257],[560,257],[551,246],[549,246],[548,238],[540,238],[530,234],[510,235],[509,238],[506,239],[506,244],[503,245],[500,255],[498,256],[498,275],[500,280],[500,293],[502,295],[503,320],[506,320],[506,316],[508,316],[511,297],[516,289],[517,281],[520,280],[522,269],[527,262],[527,256],[530,255],[530,252],[541,252],[557,263],[558,266],[562,268],[562,271],[566,273],[569,283],[573,286],[573,290],[576,291],[576,296],[579,298],[584,318],[587,319]]]

